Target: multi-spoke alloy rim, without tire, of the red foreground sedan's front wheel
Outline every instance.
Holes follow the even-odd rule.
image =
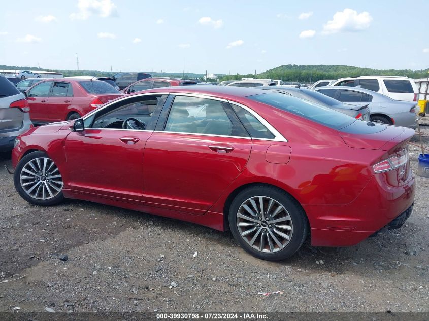
[[[41,200],[57,196],[64,185],[58,167],[48,157],[38,157],[27,162],[22,167],[19,180],[28,196]]]

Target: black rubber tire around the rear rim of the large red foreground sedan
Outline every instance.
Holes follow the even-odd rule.
[[[290,216],[293,225],[292,236],[289,242],[277,252],[259,251],[258,249],[255,249],[253,246],[249,245],[240,234],[239,228],[237,226],[238,211],[240,206],[246,200],[255,196],[264,196],[274,199],[287,210]],[[305,239],[307,238],[309,228],[307,216],[304,210],[289,194],[277,187],[264,185],[251,186],[241,191],[234,198],[231,206],[229,207],[228,221],[229,228],[233,233],[234,238],[245,249],[245,251],[259,259],[268,261],[281,261],[292,256],[304,243]],[[273,231],[273,229],[271,229],[271,231]]]

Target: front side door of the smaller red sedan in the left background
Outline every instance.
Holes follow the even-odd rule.
[[[30,119],[36,124],[50,122],[51,116],[48,107],[48,97],[53,81],[44,81],[31,87],[27,92],[27,101],[30,106]]]

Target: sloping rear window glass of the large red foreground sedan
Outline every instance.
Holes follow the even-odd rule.
[[[291,97],[283,93],[248,96],[248,98],[293,113],[333,129],[341,129],[356,121],[353,117],[310,101]]]

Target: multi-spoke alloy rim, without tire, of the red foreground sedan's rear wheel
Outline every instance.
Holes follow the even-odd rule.
[[[278,201],[267,196],[253,196],[240,205],[237,227],[248,245],[265,253],[285,248],[293,233],[289,212]]]

